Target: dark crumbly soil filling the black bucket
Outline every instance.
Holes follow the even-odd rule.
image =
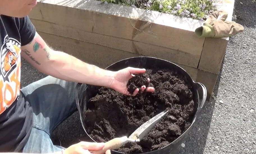
[[[147,83],[154,93],[140,92],[127,96],[113,89],[100,87],[88,102],[85,111],[86,131],[96,142],[107,142],[116,137],[129,136],[140,125],[156,114],[169,110],[163,119],[139,143],[127,143],[116,151],[144,153],[172,143],[191,125],[196,108],[192,86],[186,79],[170,70],[147,70],[132,77],[127,88],[131,93]]]

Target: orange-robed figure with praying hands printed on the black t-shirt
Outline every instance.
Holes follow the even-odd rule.
[[[7,48],[7,47],[6,47]],[[4,70],[9,71],[12,67],[12,65],[15,64],[17,60],[18,51],[20,48],[16,46],[15,44],[13,45],[14,51],[9,51],[6,53],[6,56],[4,57]],[[8,48],[7,48],[8,49]]]

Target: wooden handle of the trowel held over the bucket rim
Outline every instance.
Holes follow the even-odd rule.
[[[114,138],[105,143],[105,146],[101,150],[89,150],[93,154],[104,154],[107,150],[115,150],[127,143],[127,137]]]

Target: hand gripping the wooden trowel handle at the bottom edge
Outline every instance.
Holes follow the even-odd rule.
[[[69,146],[64,150],[64,154],[90,154],[89,150],[101,150],[104,145],[104,143],[82,141]],[[110,150],[107,150],[105,154],[111,154]]]

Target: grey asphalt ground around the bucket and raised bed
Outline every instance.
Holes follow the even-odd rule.
[[[233,21],[244,32],[230,38],[223,67],[215,86],[215,97],[205,103],[193,129],[180,147],[181,154],[256,153],[256,2],[237,0]],[[240,15],[241,19],[237,16]],[[22,86],[45,77],[26,61]],[[76,113],[55,131],[63,146],[86,135]]]

